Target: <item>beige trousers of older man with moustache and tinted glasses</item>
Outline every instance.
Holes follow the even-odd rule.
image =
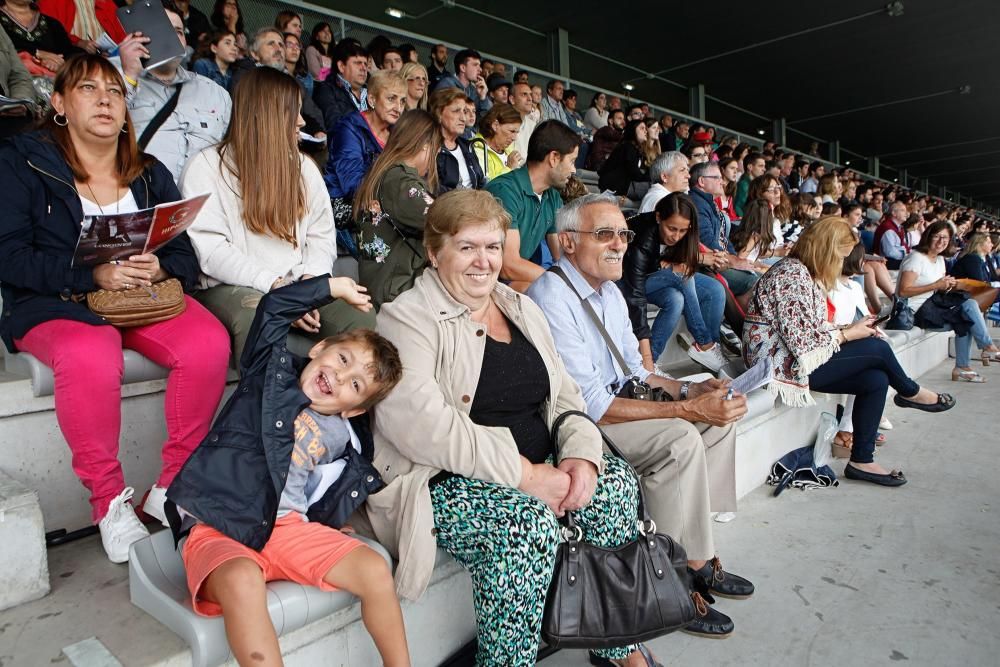
[[[603,426],[639,473],[657,530],[689,560],[715,554],[711,512],[736,510],[736,427],[646,419]]]

